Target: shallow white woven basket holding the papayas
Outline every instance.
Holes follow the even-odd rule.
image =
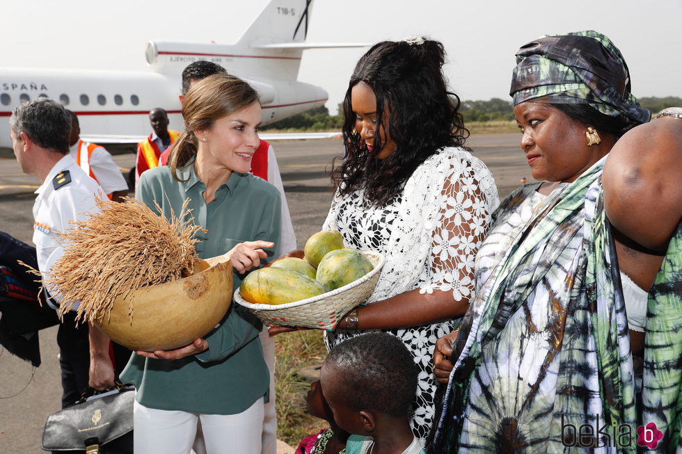
[[[257,305],[241,298],[235,291],[235,301],[246,307],[268,326],[301,326],[333,330],[351,309],[370,298],[386,259],[377,252],[363,251],[374,269],[360,279],[333,291],[284,305]]]

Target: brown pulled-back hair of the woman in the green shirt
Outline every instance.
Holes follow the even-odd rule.
[[[254,102],[258,102],[257,92],[238,77],[214,74],[198,81],[184,99],[184,133],[173,144],[168,157],[173,178],[182,181],[177,177],[177,169],[187,167],[196,157],[198,139],[194,131],[209,129],[216,120]]]

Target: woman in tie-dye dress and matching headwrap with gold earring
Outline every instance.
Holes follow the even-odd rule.
[[[679,127],[645,129],[645,147],[642,130],[619,139],[650,114],[604,35],[547,36],[516,55],[521,148],[554,182],[493,214],[476,297],[436,345],[449,381],[430,451],[682,452]]]

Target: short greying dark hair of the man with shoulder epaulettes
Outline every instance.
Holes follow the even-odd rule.
[[[58,102],[38,97],[14,109],[10,128],[17,136],[26,133],[39,147],[67,154],[71,135],[71,116]]]

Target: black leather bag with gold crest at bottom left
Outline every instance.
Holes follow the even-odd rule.
[[[131,454],[133,452],[132,387],[92,395],[88,390],[76,404],[47,416],[42,449],[59,453]]]

